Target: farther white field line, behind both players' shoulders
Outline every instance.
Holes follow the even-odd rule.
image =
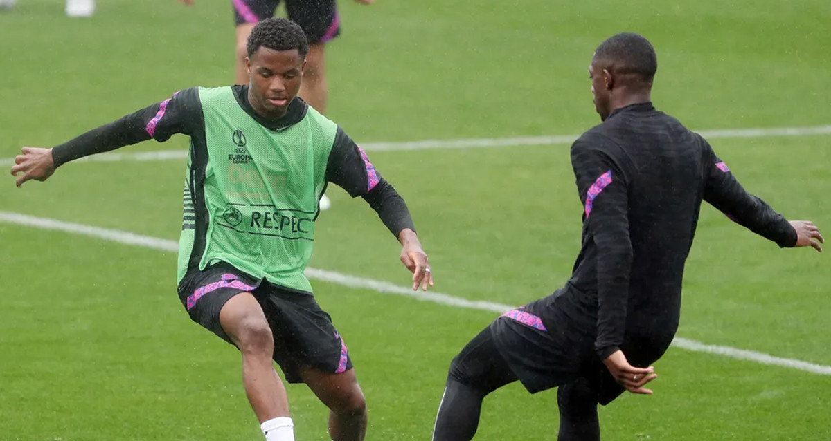
[[[831,134],[831,125],[816,127],[784,128],[727,128],[723,130],[702,130],[701,136],[716,138],[770,138],[789,136],[814,136]],[[424,141],[405,141],[396,143],[361,143],[367,152],[405,152],[408,150],[442,150],[453,148],[496,148],[539,145],[558,145],[573,143],[579,135],[522,136],[513,138],[470,138],[470,139],[427,139]],[[161,150],[140,153],[101,153],[82,157],[74,162],[120,162],[120,161],[165,161],[184,159],[186,150]],[[0,167],[14,163],[13,157],[0,159]]]

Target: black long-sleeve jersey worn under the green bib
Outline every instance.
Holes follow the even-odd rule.
[[[308,104],[296,98],[281,119],[265,119],[254,112],[248,102],[248,86],[232,86],[239,106],[259,124],[281,130],[306,116]],[[195,88],[182,90],[171,99],[151,104],[110,124],[95,128],[52,149],[55,167],[95,153],[104,153],[151,138],[164,142],[175,133],[204,139],[204,121]],[[371,175],[371,176],[370,176]],[[350,196],[362,196],[378,213],[393,235],[401,230],[415,230],[410,211],[396,189],[381,177],[365,154],[342,128],[337,128],[326,169],[326,180],[346,190]]]

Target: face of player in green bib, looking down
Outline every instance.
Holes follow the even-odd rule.
[[[260,47],[246,59],[250,76],[248,99],[258,114],[278,119],[300,90],[303,60],[297,49],[274,51]]]

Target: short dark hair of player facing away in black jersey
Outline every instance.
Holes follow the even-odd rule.
[[[612,73],[637,74],[650,83],[658,70],[658,56],[652,43],[634,32],[622,32],[608,37],[597,46],[594,58],[608,61]]]

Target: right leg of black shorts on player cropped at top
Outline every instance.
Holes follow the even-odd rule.
[[[341,32],[335,0],[286,0],[286,12],[302,28],[309,45],[325,44]]]

